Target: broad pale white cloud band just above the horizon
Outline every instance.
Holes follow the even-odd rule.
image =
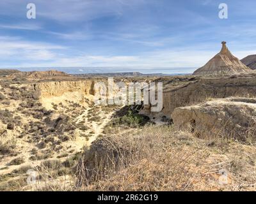
[[[68,47],[52,43],[22,40],[19,37],[0,36],[1,67],[138,67],[138,68],[184,68],[204,66],[218,51],[215,45],[193,45],[181,48],[139,52],[136,55],[74,54]],[[215,50],[209,50],[215,47]],[[234,49],[233,52],[233,47]],[[231,51],[239,57],[255,54],[256,50],[232,43]],[[79,70],[83,71],[83,69]]]

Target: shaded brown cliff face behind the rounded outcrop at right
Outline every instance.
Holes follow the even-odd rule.
[[[164,91],[163,113],[170,117],[177,107],[229,96],[256,97],[256,72],[229,78],[201,78],[183,87]]]

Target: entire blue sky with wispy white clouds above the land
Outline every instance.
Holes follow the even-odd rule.
[[[28,3],[36,19],[26,18]],[[228,19],[218,17],[220,3]],[[0,67],[187,73],[221,41],[240,59],[256,54],[255,8],[255,0],[1,0]]]

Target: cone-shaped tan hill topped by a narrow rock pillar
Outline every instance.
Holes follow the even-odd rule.
[[[245,71],[252,71],[237,57],[231,54],[223,41],[220,53],[216,54],[205,66],[196,69],[193,75],[233,75]]]

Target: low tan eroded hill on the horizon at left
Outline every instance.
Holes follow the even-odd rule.
[[[44,77],[70,77],[63,71],[49,70],[49,71],[19,71],[13,73],[10,77],[31,77],[31,78],[44,78]]]

